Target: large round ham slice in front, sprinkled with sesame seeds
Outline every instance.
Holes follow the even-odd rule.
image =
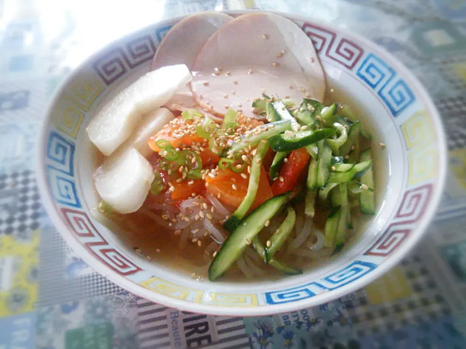
[[[250,117],[262,93],[322,101],[325,76],[312,41],[289,19],[266,13],[239,16],[200,50],[191,88],[202,107],[222,115],[228,107]],[[200,96],[202,95],[202,98]]]

